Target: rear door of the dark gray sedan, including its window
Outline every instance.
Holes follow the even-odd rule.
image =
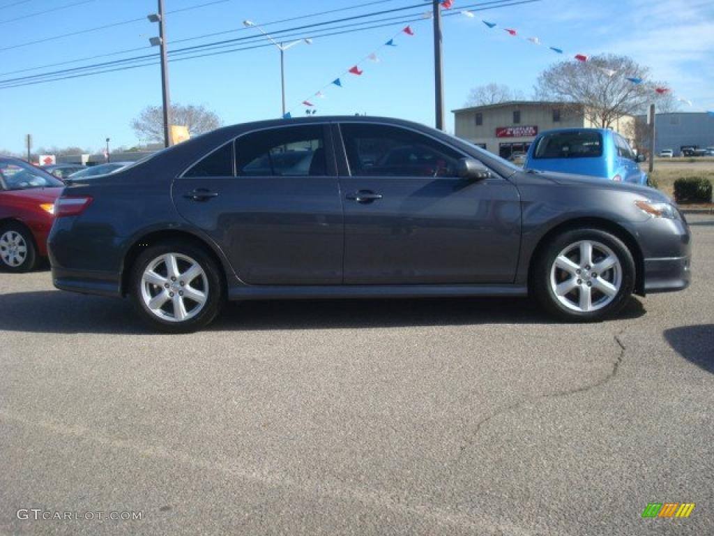
[[[342,206],[325,124],[243,134],[176,179],[174,202],[243,282],[342,281]]]

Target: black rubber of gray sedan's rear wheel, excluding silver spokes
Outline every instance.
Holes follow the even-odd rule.
[[[156,262],[159,257],[166,254],[175,254],[180,257],[187,257],[191,261],[196,262],[196,264],[198,264],[198,266],[201,267],[201,269],[203,270],[203,274],[205,274],[205,282],[203,281],[202,277],[199,277],[197,279],[200,280],[198,280],[197,284],[199,287],[198,290],[200,290],[201,292],[205,292],[204,287],[207,287],[208,293],[206,301],[204,302],[202,309],[199,309],[194,316],[186,320],[172,320],[166,319],[166,317],[159,317],[160,314],[165,314],[171,315],[176,318],[176,309],[174,305],[176,302],[174,302],[173,297],[174,295],[178,294],[178,289],[180,289],[181,287],[171,287],[169,289],[164,290],[158,285],[153,285],[146,288],[146,292],[150,293],[148,294],[149,297],[156,297],[156,295],[158,295],[160,292],[165,292],[165,294],[169,294],[169,292],[171,292],[172,290],[175,291],[171,294],[170,299],[168,297],[166,298],[166,304],[164,306],[164,309],[162,309],[162,311],[159,311],[158,313],[153,312],[144,300],[144,272],[150,264],[154,264],[154,262]],[[188,264],[186,259],[179,259],[179,261],[186,262],[186,264]],[[165,266],[165,264],[159,264],[159,267],[157,267],[157,269],[161,269],[162,266]],[[168,277],[168,274],[166,277]],[[214,318],[216,318],[216,315],[218,314],[218,312],[220,312],[221,307],[223,305],[223,300],[225,299],[225,291],[223,288],[223,278],[221,277],[221,269],[220,267],[218,267],[216,261],[213,260],[213,257],[211,257],[211,255],[208,254],[202,247],[190,243],[186,244],[185,242],[179,240],[168,240],[166,242],[161,242],[154,246],[148,247],[146,250],[144,250],[144,252],[141,252],[139,257],[136,258],[136,261],[131,267],[131,275],[129,281],[131,285],[129,289],[129,294],[131,295],[131,299],[134,302],[137,311],[139,311],[139,316],[141,317],[141,319],[146,324],[148,324],[149,327],[165,333],[192,333],[197,331],[198,329],[206,327],[213,321]],[[193,281],[196,282],[196,279],[193,279]],[[178,282],[179,281],[174,283]],[[171,283],[169,282],[169,284]],[[191,282],[188,282],[188,284],[191,284]],[[186,287],[183,287],[183,289],[185,288]],[[154,292],[156,294],[154,294]],[[197,302],[191,302],[190,300],[188,300],[188,296],[186,297],[186,299],[187,304],[197,304]],[[191,306],[187,305],[186,309],[188,309],[188,307]],[[189,311],[188,313],[190,314],[190,312],[191,311]]]

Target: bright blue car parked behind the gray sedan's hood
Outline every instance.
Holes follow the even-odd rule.
[[[535,138],[523,167],[646,185],[647,174],[639,166],[644,161],[610,129],[557,129]]]

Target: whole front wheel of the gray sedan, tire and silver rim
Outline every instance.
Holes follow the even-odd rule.
[[[532,283],[538,302],[555,317],[599,322],[628,301],[635,288],[635,261],[613,234],[572,229],[545,246],[536,259]]]

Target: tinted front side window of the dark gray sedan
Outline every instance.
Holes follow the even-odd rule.
[[[353,177],[458,177],[462,155],[434,139],[398,126],[340,126]]]

